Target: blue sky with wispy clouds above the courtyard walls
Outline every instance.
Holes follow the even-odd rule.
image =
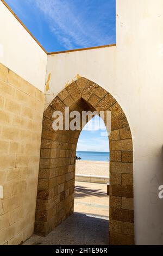
[[[48,51],[115,43],[115,0],[6,0]]]

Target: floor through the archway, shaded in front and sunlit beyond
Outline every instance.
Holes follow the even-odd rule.
[[[108,242],[106,185],[76,182],[74,214],[46,237],[33,235],[23,245],[108,245]]]

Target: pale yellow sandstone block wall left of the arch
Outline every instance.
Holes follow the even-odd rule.
[[[44,94],[0,64],[0,245],[33,234]]]

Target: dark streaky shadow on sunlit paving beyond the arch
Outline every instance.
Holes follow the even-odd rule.
[[[90,188],[84,187],[84,186],[75,187],[75,198],[89,197],[89,196],[106,197],[107,193],[102,192],[101,189],[91,190]]]

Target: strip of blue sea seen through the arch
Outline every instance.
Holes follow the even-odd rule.
[[[109,152],[77,151],[77,156],[87,161],[109,161]]]

